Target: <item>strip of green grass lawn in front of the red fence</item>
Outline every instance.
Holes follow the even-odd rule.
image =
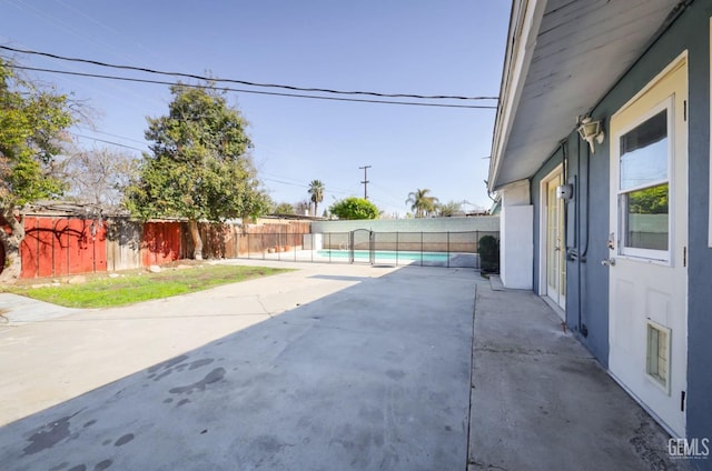
[[[167,268],[160,273],[131,271],[119,273],[117,278],[109,278],[109,273],[87,274],[87,281],[78,284],[17,284],[4,287],[2,291],[69,308],[110,308],[207,290],[220,284],[286,271],[290,270],[206,263],[190,268]]]

